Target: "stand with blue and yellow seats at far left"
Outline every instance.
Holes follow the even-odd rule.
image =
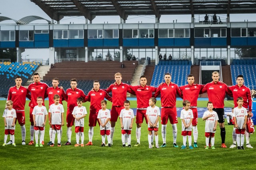
[[[5,97],[8,94],[9,87],[14,86],[14,78],[21,76],[23,84],[30,78],[30,76],[36,71],[41,63],[36,62],[2,62],[0,63],[0,94]]]

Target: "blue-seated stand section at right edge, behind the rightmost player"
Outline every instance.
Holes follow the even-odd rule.
[[[256,59],[234,59],[230,65],[232,83],[236,84],[236,77],[244,76],[244,85],[250,89],[256,89]]]

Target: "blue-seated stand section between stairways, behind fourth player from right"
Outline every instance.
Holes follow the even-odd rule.
[[[178,86],[185,85],[186,76],[184,75],[190,73],[190,62],[187,60],[160,61],[159,64],[155,66],[150,85],[158,86],[161,82],[164,82],[164,74],[166,72],[172,75],[172,82],[178,84]]]

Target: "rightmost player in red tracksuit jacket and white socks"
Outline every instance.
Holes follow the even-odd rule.
[[[238,106],[238,103],[236,102],[238,97],[242,97],[244,99],[243,107],[248,109],[248,117],[252,117],[252,95],[250,88],[244,86],[244,76],[239,75],[236,77],[236,85],[228,87],[229,90],[231,90],[234,98],[234,107]],[[246,147],[247,148],[253,148],[250,145],[250,133],[245,131],[245,137],[246,137]],[[233,144],[230,146],[230,148],[236,147],[236,132],[235,128],[233,130]]]

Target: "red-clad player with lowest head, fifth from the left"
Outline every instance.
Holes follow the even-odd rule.
[[[86,146],[92,145],[92,137],[94,133],[94,126],[97,124],[97,116],[98,112],[101,108],[101,101],[106,98],[110,102],[112,102],[112,98],[108,95],[108,93],[102,89],[100,89],[100,82],[98,80],[94,80],[93,82],[93,90],[88,93],[88,95],[84,98],[84,102],[90,103],[90,115],[89,115],[89,142]]]

